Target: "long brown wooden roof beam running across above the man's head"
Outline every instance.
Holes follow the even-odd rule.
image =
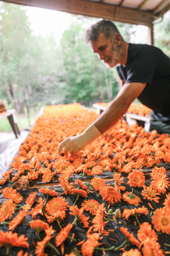
[[[151,12],[143,12],[121,6],[86,0],[7,0],[5,2],[82,14],[136,25],[151,26],[153,21]]]

